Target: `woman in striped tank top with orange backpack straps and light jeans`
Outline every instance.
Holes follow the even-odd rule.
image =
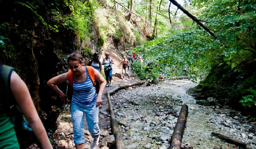
[[[91,133],[92,138],[94,138],[91,143],[91,149],[95,149],[97,148],[100,139],[98,106],[101,105],[101,96],[105,89],[106,82],[99,71],[91,66],[84,66],[83,59],[84,58],[78,51],[70,54],[68,57],[70,71],[53,77],[47,82],[47,85],[60,96],[61,100],[65,101],[66,94],[57,87],[57,84],[66,82],[67,80],[70,82],[70,85],[72,84],[73,97],[71,100],[71,120],[73,122],[74,143],[76,149],[84,149],[84,115],[86,116],[89,132]],[[72,82],[70,81],[70,76],[71,80],[73,80]],[[100,83],[98,94],[96,93],[92,82],[93,76],[95,77],[95,80]]]

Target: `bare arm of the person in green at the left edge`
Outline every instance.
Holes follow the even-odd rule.
[[[27,85],[22,81],[16,72],[12,72],[10,84],[12,94],[14,95],[18,106],[20,107],[27,121],[30,123],[31,128],[39,142],[42,144],[43,149],[52,149],[52,144],[50,144],[43,123],[37,114]]]

